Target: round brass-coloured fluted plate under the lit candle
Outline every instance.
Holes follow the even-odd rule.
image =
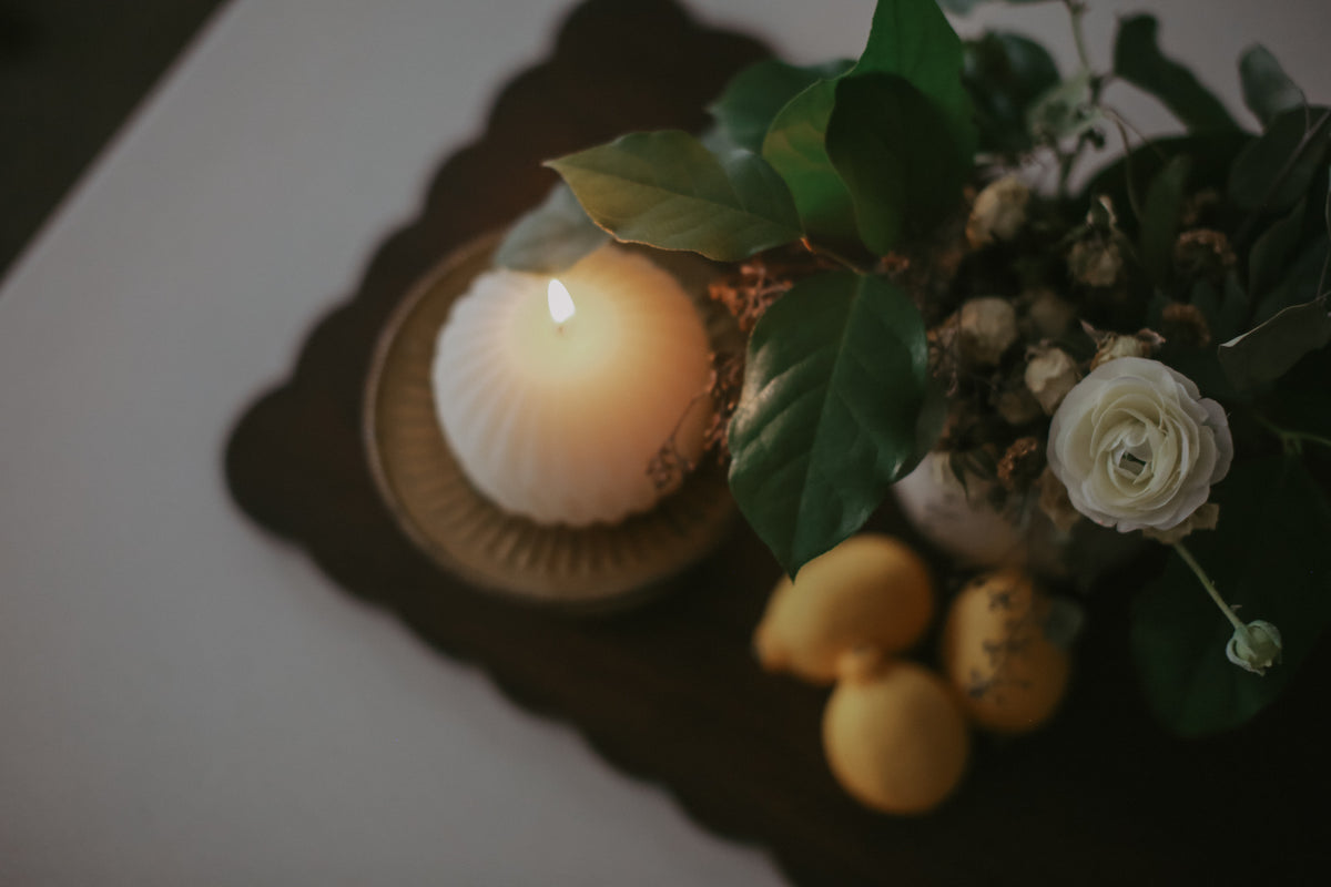
[[[449,255],[390,315],[366,382],[363,435],[371,475],[402,531],[469,582],[574,610],[626,605],[721,540],[735,515],[725,476],[703,465],[652,511],[588,528],[511,515],[471,487],[439,427],[430,375],[449,310],[490,267],[500,237]],[[692,257],[654,258],[700,302],[713,346],[735,347],[733,327],[705,305],[711,266]]]

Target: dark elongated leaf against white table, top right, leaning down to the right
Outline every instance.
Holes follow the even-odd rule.
[[[1187,68],[1166,59],[1157,43],[1155,16],[1131,16],[1118,24],[1114,73],[1165,102],[1189,129],[1238,129],[1221,100]]]

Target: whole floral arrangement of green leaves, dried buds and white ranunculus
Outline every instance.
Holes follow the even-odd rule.
[[[715,356],[712,436],[791,576],[926,456],[1014,527],[1170,547],[1138,670],[1175,731],[1231,729],[1331,621],[1331,109],[1252,47],[1247,132],[1155,19],[1123,19],[1097,70],[1062,3],[1070,73],[1014,33],[961,40],[936,0],[880,0],[857,60],[761,61],[700,136],[550,161],[563,182],[496,261],[552,273],[615,238],[724,263],[712,294],[748,346]],[[1186,133],[1135,136],[1111,80]]]

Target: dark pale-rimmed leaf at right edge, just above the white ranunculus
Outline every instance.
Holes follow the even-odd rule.
[[[1327,299],[1294,305],[1221,346],[1225,374],[1239,391],[1275,382],[1310,351],[1331,342]]]

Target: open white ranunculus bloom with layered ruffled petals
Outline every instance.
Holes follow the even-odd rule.
[[[1067,392],[1049,428],[1049,467],[1098,524],[1170,529],[1230,469],[1221,404],[1159,360],[1118,358]]]

